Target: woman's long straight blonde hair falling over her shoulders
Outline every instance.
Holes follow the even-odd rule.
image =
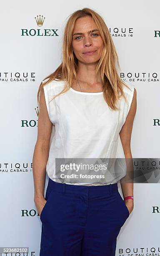
[[[67,92],[72,86],[74,79],[77,80],[77,67],[78,67],[78,60],[72,51],[72,32],[75,26],[75,21],[78,18],[85,17],[85,16],[92,17],[97,28],[100,31],[100,35],[103,40],[103,51],[100,57],[100,60],[97,64],[95,75],[97,75],[98,71],[100,70],[102,84],[103,84],[103,97],[107,102],[108,106],[112,110],[119,110],[117,108],[117,101],[121,96],[123,96],[126,100],[125,94],[123,92],[123,85],[128,87],[125,82],[120,79],[120,76],[117,73],[117,69],[120,70],[119,60],[117,56],[117,52],[112,41],[112,37],[110,32],[105,24],[103,18],[96,13],[94,10],[90,8],[83,8],[82,10],[77,10],[74,13],[70,14],[69,19],[67,20],[64,35],[63,35],[63,43],[62,43],[62,63],[59,67],[53,72],[52,74],[48,75],[45,79],[46,82],[40,84],[40,87],[37,92],[37,102],[39,106],[39,96],[40,90],[43,86],[47,83],[53,81],[54,79],[57,81],[64,80],[65,85],[63,90],[55,95],[55,97],[59,96],[60,94]],[[44,80],[45,80],[44,79]],[[129,87],[128,87],[129,88]],[[130,88],[129,88],[130,89]],[[120,93],[120,94],[119,94]],[[54,99],[53,97],[52,99]],[[51,99],[51,100],[52,100]]]

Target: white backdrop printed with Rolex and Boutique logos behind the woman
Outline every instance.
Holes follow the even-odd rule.
[[[37,90],[61,63],[67,17],[85,7],[105,19],[121,78],[137,90],[133,158],[160,156],[160,1],[1,2],[0,247],[29,247],[29,256],[39,255],[41,236],[32,175]],[[45,17],[42,26],[39,15]],[[159,189],[156,183],[134,184],[134,210],[117,237],[116,256],[160,255]]]

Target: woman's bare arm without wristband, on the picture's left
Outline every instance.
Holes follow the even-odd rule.
[[[50,136],[52,123],[47,113],[44,90],[40,93],[40,109],[38,115],[37,141],[35,144],[32,171],[34,179],[34,202],[40,215],[43,206],[47,202],[44,198],[46,164],[49,155]]]

